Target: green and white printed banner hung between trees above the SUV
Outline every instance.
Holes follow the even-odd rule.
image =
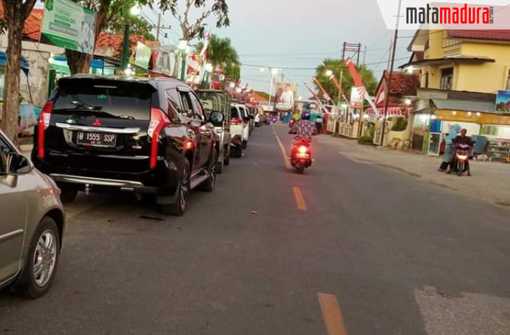
[[[96,13],[69,0],[46,0],[41,43],[92,54]]]

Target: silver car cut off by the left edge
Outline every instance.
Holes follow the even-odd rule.
[[[65,225],[59,195],[0,131],[0,289],[35,299],[50,288]]]

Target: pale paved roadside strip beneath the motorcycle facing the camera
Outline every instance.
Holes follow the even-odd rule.
[[[354,140],[320,135],[317,142],[334,145],[358,163],[398,170],[435,186],[510,208],[510,164],[469,161],[473,177],[438,172],[442,158],[359,145]]]

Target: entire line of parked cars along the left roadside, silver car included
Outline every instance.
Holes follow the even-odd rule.
[[[31,161],[0,131],[0,288],[31,298],[48,290],[63,203],[79,191],[152,195],[163,213],[182,216],[189,192],[212,192],[261,122],[225,91],[178,80],[62,78],[39,116]]]

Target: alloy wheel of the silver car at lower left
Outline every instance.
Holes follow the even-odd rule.
[[[52,230],[45,230],[37,241],[34,253],[34,280],[42,288],[52,277],[57,262],[57,241]]]

